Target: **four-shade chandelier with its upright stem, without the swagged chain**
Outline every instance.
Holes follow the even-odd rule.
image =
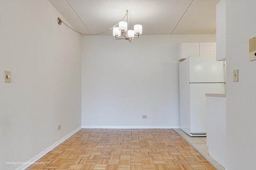
[[[126,21],[120,21],[118,23],[119,27],[114,27],[113,28],[113,36],[116,37],[116,40],[118,39],[126,39],[128,41],[130,41],[130,43],[132,42],[132,39],[134,38],[139,38],[139,35],[142,34],[142,25],[140,24],[136,24],[134,25],[134,30],[127,30],[127,24],[128,24],[128,10],[126,10]],[[126,32],[126,35],[124,34],[124,32]],[[118,38],[121,36],[124,36],[123,38]],[[136,35],[136,36],[134,36]]]

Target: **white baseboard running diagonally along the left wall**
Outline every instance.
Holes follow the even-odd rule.
[[[66,135],[65,137],[63,137],[62,139],[60,139],[59,141],[57,141],[56,143],[54,143],[52,146],[48,147],[47,149],[45,149],[44,151],[42,151],[41,153],[39,153],[38,155],[34,156],[34,158],[28,160],[27,162],[29,162],[28,164],[23,164],[22,166],[18,167],[16,170],[24,170],[26,168],[28,168],[29,166],[31,166],[32,164],[30,162],[36,162],[38,159],[42,158],[42,156],[44,156],[45,154],[47,154],[48,152],[50,152],[50,150],[54,149],[55,147],[57,147],[58,145],[60,145],[60,143],[64,142],[66,139],[68,139],[69,137],[71,137],[72,135],[74,135],[76,132],[78,132],[80,129],[82,129],[81,127],[78,127],[76,130],[72,131],[71,133],[69,133],[68,135]]]

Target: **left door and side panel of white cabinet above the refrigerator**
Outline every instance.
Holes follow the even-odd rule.
[[[193,56],[199,56],[199,43],[180,43],[178,46],[178,61]]]

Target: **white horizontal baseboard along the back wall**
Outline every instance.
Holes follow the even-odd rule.
[[[179,129],[179,126],[82,126],[82,129]]]

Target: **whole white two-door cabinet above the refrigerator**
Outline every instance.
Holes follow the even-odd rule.
[[[180,43],[178,61],[183,61],[190,56],[216,57],[216,43]]]

